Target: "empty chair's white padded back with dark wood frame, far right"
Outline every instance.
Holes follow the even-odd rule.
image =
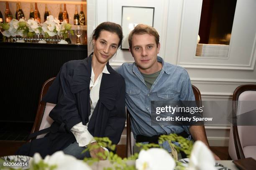
[[[256,85],[246,84],[238,86],[233,92],[233,101],[238,101],[233,102],[234,116],[254,110],[255,105],[243,101],[256,101]],[[239,126],[239,124],[238,126],[231,126],[228,152],[233,160],[246,157],[243,147],[256,145],[255,131],[256,126]]]

